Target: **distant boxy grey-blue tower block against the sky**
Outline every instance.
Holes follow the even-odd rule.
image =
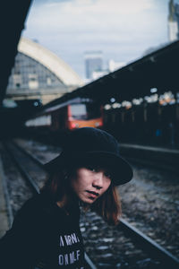
[[[86,51],[84,57],[86,78],[92,79],[93,72],[100,72],[103,70],[102,51]]]

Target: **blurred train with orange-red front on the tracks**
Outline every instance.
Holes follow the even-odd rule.
[[[41,133],[72,131],[84,126],[103,126],[102,107],[90,99],[75,98],[42,109],[35,117],[25,122],[29,130]]]

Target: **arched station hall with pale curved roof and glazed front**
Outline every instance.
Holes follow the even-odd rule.
[[[30,39],[21,38],[6,98],[40,99],[45,104],[82,85],[64,61]]]

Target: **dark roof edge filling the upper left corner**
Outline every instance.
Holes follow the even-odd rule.
[[[17,54],[17,45],[24,28],[24,22],[30,8],[31,0],[11,1],[4,0],[0,4],[0,106],[4,99],[8,77]]]

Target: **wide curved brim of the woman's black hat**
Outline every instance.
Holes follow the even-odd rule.
[[[98,164],[110,169],[115,186],[129,182],[133,176],[131,165],[121,156],[109,152],[78,152],[78,154],[76,152],[74,154],[62,152],[54,160],[47,162],[45,169],[48,172],[53,172],[62,169],[64,166],[83,166],[87,164]]]

